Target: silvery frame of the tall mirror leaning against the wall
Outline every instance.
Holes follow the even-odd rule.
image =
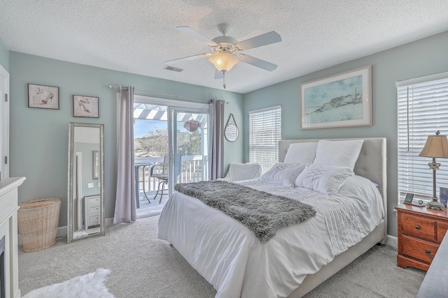
[[[101,227],[100,232],[87,234],[83,237],[76,237],[73,238],[73,204],[70,202],[70,198],[73,198],[73,165],[75,161],[75,152],[73,151],[73,137],[76,127],[92,127],[92,128],[99,128],[99,162],[100,162],[100,173],[98,177],[98,181],[101,185],[101,191],[99,193],[100,195],[100,208],[101,208]],[[68,184],[68,195],[67,195],[67,243],[70,243],[71,241],[75,241],[78,239],[85,239],[88,237],[94,237],[99,234],[105,235],[106,234],[106,218],[104,214],[104,124],[86,124],[86,123],[75,123],[70,122],[69,123],[69,168],[68,168],[68,176],[69,176],[69,184]]]

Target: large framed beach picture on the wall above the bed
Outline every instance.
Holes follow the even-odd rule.
[[[372,66],[300,84],[302,129],[372,126]]]

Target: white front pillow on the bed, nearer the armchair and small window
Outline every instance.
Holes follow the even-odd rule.
[[[306,163],[276,163],[271,170],[260,177],[261,180],[294,186],[297,176],[303,171]]]

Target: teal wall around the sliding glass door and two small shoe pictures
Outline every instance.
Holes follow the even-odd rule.
[[[4,67],[4,66],[3,66]],[[10,73],[10,177],[25,176],[19,202],[35,198],[62,198],[59,226],[66,225],[69,122],[104,124],[106,218],[115,208],[117,175],[117,96],[108,84],[197,98],[228,101],[225,117],[243,119],[241,94],[198,87],[143,75],[122,73],[66,61],[9,52]],[[59,87],[59,110],[29,108],[27,84]],[[72,117],[73,94],[99,96],[99,119]],[[139,94],[136,92],[136,94]],[[141,94],[147,95],[147,94]],[[201,101],[204,103],[204,101]],[[243,134],[225,142],[225,165],[243,161]]]

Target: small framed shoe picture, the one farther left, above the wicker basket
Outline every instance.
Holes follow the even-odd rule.
[[[28,84],[28,107],[59,110],[59,87]]]

